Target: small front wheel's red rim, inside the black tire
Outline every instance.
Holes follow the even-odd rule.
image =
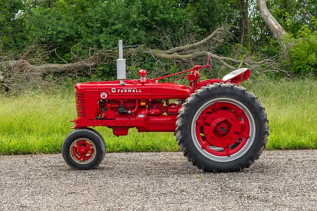
[[[76,139],[69,148],[69,154],[72,160],[79,164],[90,163],[96,157],[95,144],[86,138]]]

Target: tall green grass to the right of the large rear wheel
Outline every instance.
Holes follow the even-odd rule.
[[[317,81],[260,81],[249,85],[265,106],[266,149],[317,149]]]

